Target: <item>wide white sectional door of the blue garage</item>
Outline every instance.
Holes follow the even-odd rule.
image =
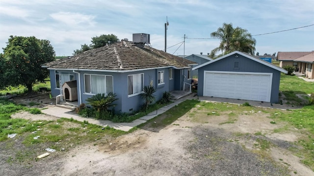
[[[270,101],[272,73],[204,72],[204,96]]]

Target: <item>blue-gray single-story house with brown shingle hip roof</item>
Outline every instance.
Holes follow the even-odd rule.
[[[131,113],[143,104],[140,94],[145,85],[152,83],[157,89],[156,100],[165,91],[183,90],[191,83],[191,65],[196,63],[146,44],[121,41],[42,67],[50,71],[52,97],[60,95],[64,82],[76,80],[71,89],[77,91],[62,90],[65,100],[71,92],[77,93],[78,104],[95,94],[113,92],[118,99],[114,111]]]

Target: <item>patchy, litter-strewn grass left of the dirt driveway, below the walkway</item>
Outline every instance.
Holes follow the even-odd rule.
[[[35,111],[34,111],[35,109]],[[61,118],[50,121],[30,121],[25,119],[12,119],[13,113],[23,111],[40,112],[37,108],[15,104],[0,98],[0,151],[6,151],[11,164],[22,164],[27,167],[36,156],[42,154],[45,148],[56,151],[69,149],[81,144],[104,144],[112,138],[127,132],[110,127],[89,124],[88,121],[78,122],[74,119]],[[11,140],[9,134],[16,134]],[[38,139],[34,137],[40,136]],[[16,144],[22,145],[16,145]]]

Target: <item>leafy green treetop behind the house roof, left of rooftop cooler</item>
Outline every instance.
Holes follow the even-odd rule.
[[[78,50],[74,50],[73,54],[78,54],[78,53],[84,52],[86,50],[92,50],[92,49],[104,47],[108,44],[119,42],[119,39],[117,36],[115,36],[113,34],[108,34],[108,35],[103,34],[100,36],[92,37],[91,42],[92,42],[92,44],[90,44],[90,45],[86,45],[86,44],[81,45],[81,48]]]

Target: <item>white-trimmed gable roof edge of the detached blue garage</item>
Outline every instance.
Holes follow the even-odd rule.
[[[283,72],[283,73],[285,73],[285,74],[288,73],[286,70],[284,70],[284,69],[281,68],[281,67],[277,67],[276,65],[271,64],[271,63],[269,63],[269,62],[266,62],[266,61],[264,61],[264,60],[262,60],[262,59],[260,59],[260,58],[258,58],[258,57],[256,57],[256,56],[252,56],[252,55],[250,55],[250,54],[247,54],[247,53],[244,53],[244,52],[240,52],[240,51],[233,51],[233,52],[231,52],[231,53],[229,53],[229,54],[226,54],[226,55],[223,55],[223,56],[221,56],[221,57],[218,57],[217,59],[214,59],[214,60],[212,60],[212,61],[209,61],[209,62],[204,63],[204,64],[202,64],[202,65],[199,65],[199,66],[197,66],[197,67],[194,67],[192,70],[196,70],[196,69],[198,69],[198,68],[204,67],[204,66],[206,66],[206,65],[208,65],[208,64],[211,64],[211,63],[213,63],[213,62],[217,62],[217,61],[219,61],[219,60],[221,60],[221,59],[224,59],[224,58],[226,58],[226,57],[229,57],[229,56],[231,56],[231,55],[233,55],[233,54],[240,54],[240,55],[242,55],[242,56],[244,56],[244,57],[247,57],[247,58],[252,59],[252,60],[254,60],[254,61],[256,61],[256,62],[259,62],[259,63],[261,63],[261,64],[263,64],[263,65],[265,65],[265,66],[267,66],[267,67],[273,68],[273,69],[278,70],[278,71],[280,71],[280,72]]]

